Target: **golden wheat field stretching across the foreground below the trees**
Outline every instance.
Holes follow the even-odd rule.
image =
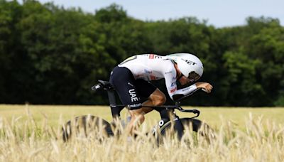
[[[192,108],[192,107],[186,107]],[[0,105],[0,161],[284,161],[284,109],[202,107],[198,119],[214,129],[207,141],[186,131],[181,141],[166,138],[157,146],[143,135],[158,121],[146,115],[141,136],[76,137],[62,141],[69,119],[93,114],[111,121],[99,106]],[[190,114],[180,114],[187,117]],[[126,117],[127,112],[122,112]]]

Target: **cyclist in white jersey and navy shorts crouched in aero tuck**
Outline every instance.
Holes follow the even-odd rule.
[[[212,85],[196,82],[202,73],[202,62],[189,53],[133,55],[117,65],[111,71],[109,82],[119,94],[121,102],[129,109],[129,132],[132,134],[133,129],[145,120],[144,114],[153,110],[143,106],[160,106],[165,103],[164,93],[148,81],[164,78],[168,95],[176,100],[199,89],[211,92]],[[178,90],[177,82],[180,85],[195,84]],[[143,97],[147,99],[146,102],[142,102]]]

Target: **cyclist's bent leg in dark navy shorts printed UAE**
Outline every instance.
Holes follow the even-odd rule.
[[[146,80],[135,80],[131,71],[127,68],[114,68],[109,81],[119,94],[121,102],[129,108],[131,121],[128,129],[130,133],[143,123],[144,114],[153,110],[142,105],[158,106],[165,102],[163,92],[160,92],[157,87]],[[143,102],[142,98],[146,98],[146,102]]]

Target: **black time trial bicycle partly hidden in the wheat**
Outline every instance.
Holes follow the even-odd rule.
[[[84,115],[81,117],[76,117],[75,120],[67,121],[67,123],[62,127],[62,139],[68,141],[72,134],[83,136],[88,136],[91,131],[98,131],[97,134],[104,136],[116,136],[121,134],[121,129],[118,129],[119,124],[123,123],[121,120],[121,111],[124,109],[124,105],[116,104],[116,95],[114,87],[104,80],[98,80],[98,83],[92,86],[93,91],[106,90],[109,98],[109,106],[111,109],[111,115],[113,121],[109,123],[108,121],[97,117],[94,115]],[[153,127],[151,134],[155,136],[158,143],[162,141],[162,138],[168,136],[169,134],[178,136],[178,139],[182,139],[184,135],[185,128],[192,129],[192,132],[196,132],[197,135],[204,136],[206,139],[210,140],[214,138],[214,131],[210,126],[199,119],[200,111],[197,109],[182,109],[180,103],[182,99],[185,99],[189,95],[182,97],[175,101],[175,105],[163,105],[163,106],[153,106],[152,108],[159,112],[160,121],[156,126]],[[180,112],[187,112],[195,114],[194,117],[180,118],[175,110]],[[75,121],[72,124],[72,121]],[[122,126],[122,125],[120,125]]]

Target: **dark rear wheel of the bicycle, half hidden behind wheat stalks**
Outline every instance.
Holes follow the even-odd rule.
[[[113,135],[111,125],[108,121],[100,117],[84,115],[67,121],[62,127],[63,141],[68,141],[71,136],[87,137],[91,135],[97,139],[102,139],[104,136],[111,136]]]

